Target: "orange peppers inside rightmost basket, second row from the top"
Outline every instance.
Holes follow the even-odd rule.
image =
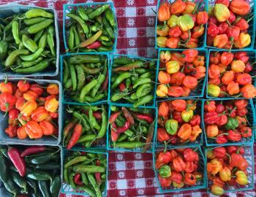
[[[208,67],[208,96],[254,99],[253,64],[246,51],[212,52]]]

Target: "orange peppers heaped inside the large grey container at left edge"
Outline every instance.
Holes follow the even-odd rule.
[[[0,82],[0,110],[8,115],[5,134],[18,139],[58,137],[59,85],[42,87],[26,80]]]

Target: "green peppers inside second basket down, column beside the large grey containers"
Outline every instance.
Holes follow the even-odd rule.
[[[108,57],[72,55],[63,59],[65,99],[79,103],[106,100],[108,93]]]

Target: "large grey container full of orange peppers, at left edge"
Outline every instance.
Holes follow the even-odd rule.
[[[59,144],[60,90],[61,84],[54,80],[1,81],[1,142]]]

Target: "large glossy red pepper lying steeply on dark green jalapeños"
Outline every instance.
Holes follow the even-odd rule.
[[[21,177],[26,174],[26,163],[23,158],[20,157],[20,151],[15,147],[8,148],[8,156],[15,168],[18,170]]]

